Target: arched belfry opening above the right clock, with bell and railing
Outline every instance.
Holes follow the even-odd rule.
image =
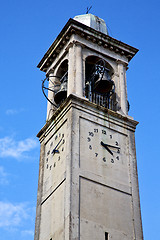
[[[100,106],[114,110],[115,84],[111,65],[97,56],[88,56],[85,62],[85,97]]]

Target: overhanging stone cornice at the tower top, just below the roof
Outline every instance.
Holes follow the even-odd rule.
[[[59,55],[61,49],[66,46],[73,34],[79,35],[81,38],[91,41],[103,48],[109,49],[119,55],[124,55],[130,61],[138,49],[129,46],[117,39],[114,39],[104,33],[90,28],[76,20],[69,19],[62,31],[59,33],[55,41],[52,43],[48,51],[45,53],[39,64],[37,65],[41,71],[46,72],[48,67],[53,63],[54,59]]]

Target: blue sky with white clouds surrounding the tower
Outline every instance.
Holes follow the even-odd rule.
[[[45,124],[43,72],[37,64],[69,18],[103,18],[110,36],[140,51],[127,71],[129,115],[136,131],[144,239],[160,239],[160,2],[159,0],[1,0],[0,239],[32,240],[39,142]]]

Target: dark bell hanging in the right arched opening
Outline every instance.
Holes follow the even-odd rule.
[[[114,86],[114,82],[111,80],[108,72],[105,71],[103,75],[101,73],[98,75],[98,79],[95,79],[94,91],[100,94],[109,93]]]

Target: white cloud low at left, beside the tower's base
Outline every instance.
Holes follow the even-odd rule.
[[[29,210],[25,203],[0,202],[0,228],[18,227],[29,218]]]

